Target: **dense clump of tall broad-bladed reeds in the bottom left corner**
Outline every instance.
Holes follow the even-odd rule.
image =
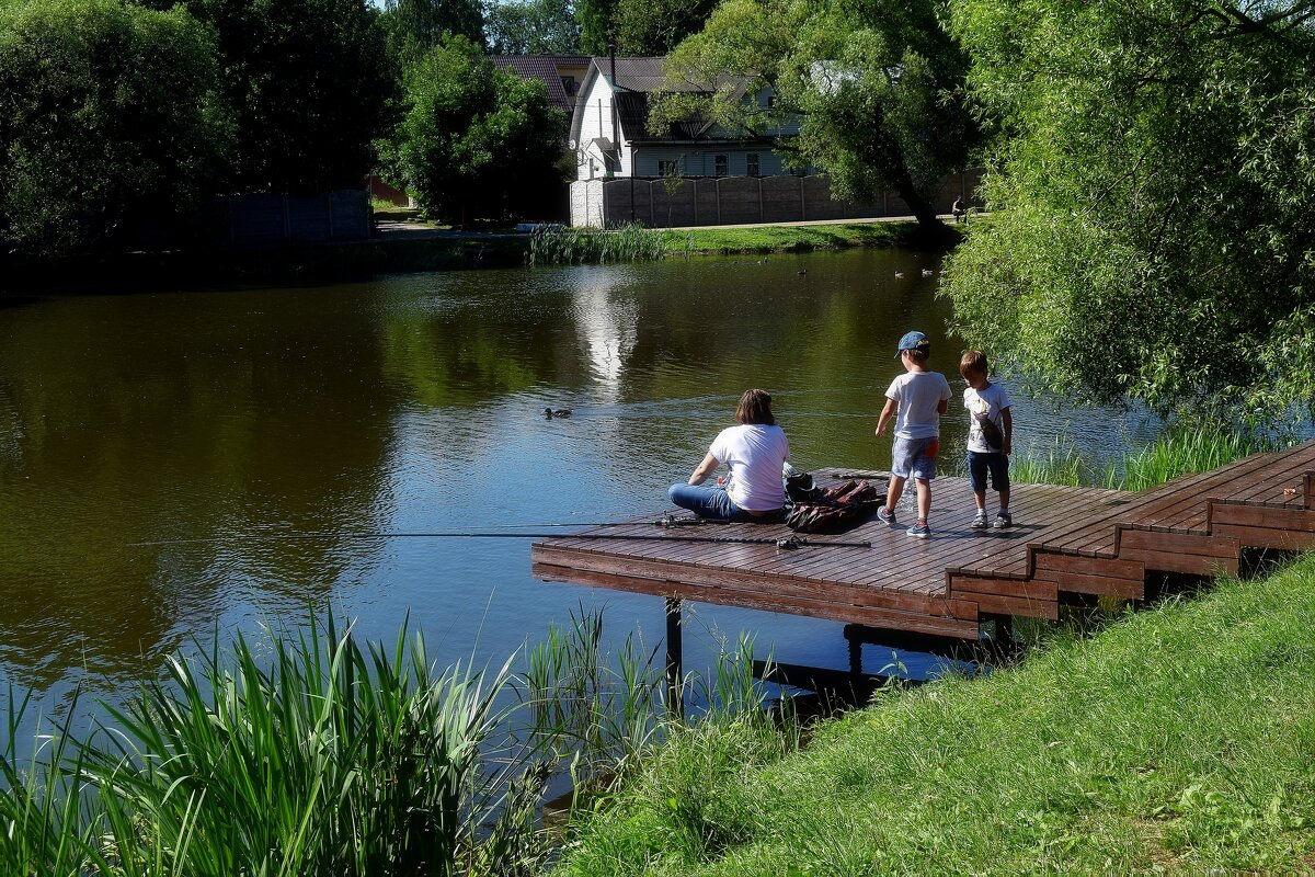
[[[331,621],[270,647],[172,659],[30,773],[11,719],[5,873],[466,873],[501,803],[481,746],[508,667],[438,675],[405,626],[391,652]]]

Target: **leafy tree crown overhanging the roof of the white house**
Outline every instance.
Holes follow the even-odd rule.
[[[771,112],[746,104],[735,85],[711,114],[750,130],[797,118],[784,150],[814,164],[832,191],[861,200],[896,189],[918,220],[939,226],[928,192],[961,170],[977,142],[965,110],[968,59],[942,28],[932,0],[725,0],[698,34],[673,53],[675,79],[748,78],[750,92],[769,85]],[[656,117],[689,112],[676,99]]]

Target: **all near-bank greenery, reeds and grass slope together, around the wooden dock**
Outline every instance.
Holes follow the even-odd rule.
[[[1119,471],[1165,480],[1270,446],[1170,433]],[[1066,459],[1020,468],[1066,479]],[[238,635],[171,657],[164,682],[80,739],[38,722],[28,756],[29,699],[11,692],[0,864],[112,877],[1306,870],[1315,557],[1253,561],[1255,577],[1166,586],[1145,611],[1028,626],[1015,664],[890,685],[810,722],[788,698],[767,709],[747,638],[684,680],[698,709],[677,719],[659,650],[631,635],[605,651],[584,609],[501,669],[435,668],[406,625],[391,648],[331,618]],[[573,795],[544,819],[554,776]]]

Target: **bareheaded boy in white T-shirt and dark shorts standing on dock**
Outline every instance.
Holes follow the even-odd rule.
[[[1014,417],[1009,412],[1009,393],[990,383],[986,354],[969,350],[959,360],[959,373],[968,381],[964,408],[968,409],[968,481],[977,501],[972,529],[986,529],[986,476],[999,494],[999,513],[994,527],[1014,525],[1009,513],[1009,455],[1014,452]]]

